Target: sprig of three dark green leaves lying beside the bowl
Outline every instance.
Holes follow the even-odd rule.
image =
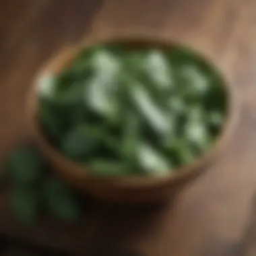
[[[34,148],[16,148],[7,162],[7,174],[10,209],[22,223],[34,224],[44,213],[65,222],[75,222],[82,215],[79,196],[53,176],[49,164]]]

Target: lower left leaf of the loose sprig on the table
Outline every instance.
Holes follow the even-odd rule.
[[[39,215],[40,197],[32,187],[13,187],[10,195],[10,207],[13,215],[22,223],[31,225]]]

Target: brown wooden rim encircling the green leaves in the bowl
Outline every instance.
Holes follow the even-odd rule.
[[[202,156],[196,158],[191,164],[185,164],[178,168],[174,168],[173,172],[169,172],[166,175],[115,175],[115,176],[103,176],[93,174],[89,169],[82,167],[79,163],[73,162],[69,158],[63,156],[58,150],[55,149],[54,146],[51,146],[51,143],[44,137],[42,131],[40,130],[39,123],[36,121],[36,100],[37,100],[37,92],[36,85],[38,84],[38,80],[43,75],[47,73],[58,73],[63,70],[66,65],[75,57],[77,53],[82,49],[90,49],[91,46],[96,44],[108,44],[108,43],[117,43],[117,44],[131,44],[136,42],[141,42],[142,44],[156,46],[158,49],[174,47],[185,47],[187,49],[191,49],[193,53],[195,53],[198,57],[200,57],[207,65],[210,65],[220,76],[222,79],[222,84],[224,86],[224,90],[226,91],[226,115],[225,121],[222,125],[222,129],[219,135],[216,137],[216,141],[213,143],[211,148],[207,150]],[[150,185],[162,185],[163,183],[178,183],[179,181],[185,179],[186,177],[190,177],[193,174],[199,174],[204,168],[219,156],[220,152],[224,150],[225,146],[230,141],[230,137],[232,136],[234,129],[236,127],[238,121],[238,101],[236,94],[234,93],[234,88],[232,88],[230,82],[226,79],[222,70],[206,55],[200,53],[193,47],[189,46],[189,44],[184,44],[183,42],[179,42],[177,40],[172,40],[171,38],[164,38],[164,36],[155,36],[150,33],[141,33],[141,32],[124,32],[123,34],[98,34],[94,36],[87,36],[80,40],[77,44],[73,44],[71,46],[63,47],[59,49],[53,57],[49,59],[41,69],[39,69],[38,73],[36,73],[32,90],[30,90],[28,94],[28,122],[30,128],[32,129],[32,134],[38,144],[39,148],[42,150],[43,154],[46,154],[46,157],[50,159],[51,162],[54,162],[58,165],[65,166],[65,172],[73,172],[72,175],[77,177],[77,179],[86,179],[90,182],[108,182],[115,187],[148,187]],[[68,170],[69,169],[69,170]],[[62,170],[64,171],[64,170]]]

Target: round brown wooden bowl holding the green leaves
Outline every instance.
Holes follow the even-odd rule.
[[[46,137],[44,137],[44,133],[40,129],[38,115],[36,115],[36,85],[38,83],[37,78],[41,75],[49,72],[58,73],[63,67],[67,67],[80,49],[102,42],[125,44],[131,48],[156,46],[160,49],[170,49],[170,47],[174,45],[179,46],[177,42],[165,40],[164,38],[156,38],[154,35],[130,33],[124,35],[119,34],[117,36],[94,36],[94,38],[90,38],[89,36],[79,44],[59,51],[59,53],[38,72],[33,90],[28,98],[28,122],[32,128],[36,143],[42,150],[42,154],[44,154],[52,164],[57,174],[65,179],[67,183],[100,199],[122,203],[139,203],[158,201],[170,197],[173,193],[183,189],[189,182],[194,181],[203,170],[206,170],[206,167],[218,158],[218,155],[222,153],[222,150],[228,144],[228,141],[230,141],[237,120],[232,88],[228,83],[224,82],[227,92],[226,122],[224,123],[222,133],[216,141],[216,145],[213,146],[212,150],[192,164],[182,166],[177,172],[174,172],[174,174],[172,172],[172,174],[164,177],[96,176],[90,170],[86,170],[79,164],[62,156],[51,146],[51,143],[47,141]],[[207,59],[205,59],[205,61],[207,61]],[[211,61],[208,62],[211,63]]]

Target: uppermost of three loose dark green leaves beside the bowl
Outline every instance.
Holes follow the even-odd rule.
[[[42,176],[44,160],[32,148],[15,149],[7,163],[11,180],[19,185],[32,185]]]

